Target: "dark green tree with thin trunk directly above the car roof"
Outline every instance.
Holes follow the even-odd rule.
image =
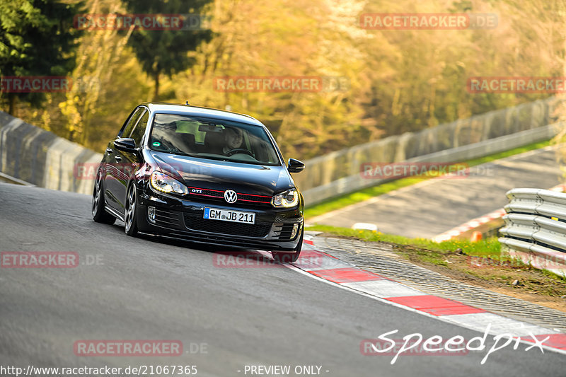
[[[202,14],[211,0],[125,0],[127,10],[134,14]],[[173,29],[173,28],[171,28]],[[188,52],[195,51],[201,42],[212,39],[211,30],[135,30],[129,37],[142,69],[155,81],[154,100],[159,95],[159,76],[189,69],[196,60]]]

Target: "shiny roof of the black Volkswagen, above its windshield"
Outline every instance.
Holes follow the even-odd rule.
[[[213,117],[219,120],[232,120],[234,122],[255,124],[258,126],[265,127],[265,125],[262,124],[262,122],[255,119],[254,117],[250,117],[250,115],[239,114],[238,112],[231,112],[231,111],[219,110],[213,108],[202,108],[200,106],[180,105],[176,103],[146,102],[146,103],[141,103],[141,105],[147,106],[151,112]]]

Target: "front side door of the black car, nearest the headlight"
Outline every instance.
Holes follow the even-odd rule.
[[[145,111],[142,112],[139,120],[137,120],[137,123],[134,124],[132,131],[127,134],[127,130],[125,130],[124,134],[122,134],[122,137],[129,137],[134,139],[134,141],[136,141],[136,147],[141,146],[141,143],[143,142],[147,121],[149,120],[149,110],[144,110]],[[116,151],[116,153],[117,156],[120,157],[122,179],[117,180],[116,182],[115,197],[117,198],[118,204],[120,205],[120,213],[123,213],[126,206],[127,184],[129,182],[129,178],[139,168],[140,161],[137,153],[129,153],[124,151]]]

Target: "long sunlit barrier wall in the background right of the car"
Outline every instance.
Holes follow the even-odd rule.
[[[407,132],[400,136],[387,137],[350,149],[328,153],[306,161],[308,174],[296,174],[294,179],[301,191],[310,193],[314,192],[310,191],[314,187],[324,187],[342,178],[357,175],[362,163],[406,161],[543,127],[556,122],[557,117],[554,115],[554,110],[558,103],[557,98],[537,100],[514,108],[495,110],[468,119],[440,124],[420,132]],[[350,191],[353,190],[357,188],[354,187]],[[320,201],[316,195],[308,194],[308,196]]]

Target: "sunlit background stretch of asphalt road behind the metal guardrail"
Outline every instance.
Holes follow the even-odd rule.
[[[371,223],[383,233],[432,238],[502,208],[505,192],[514,187],[550,188],[560,175],[555,151],[538,149],[475,166],[463,178],[427,180],[307,221],[345,228]]]

